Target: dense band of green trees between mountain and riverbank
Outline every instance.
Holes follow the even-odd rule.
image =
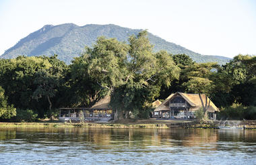
[[[56,117],[59,107],[91,107],[105,95],[115,117],[149,117],[151,103],[170,93],[206,93],[219,119],[256,119],[256,56],[223,66],[186,54],[153,51],[142,31],[129,43],[100,37],[71,64],[57,55],[0,59],[1,121]]]

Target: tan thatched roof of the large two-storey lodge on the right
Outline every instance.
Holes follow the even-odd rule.
[[[181,97],[183,97],[183,99],[185,99],[185,101],[187,101],[187,103],[189,103],[189,105],[191,106],[189,109],[190,111],[197,111],[200,107],[202,107],[201,100],[200,100],[200,97],[198,94],[172,93],[154,111],[169,110],[169,107],[168,107],[169,100],[172,99],[173,97],[176,97],[177,95],[180,95]],[[203,103],[205,103],[205,94],[201,94],[201,98],[203,100]],[[207,100],[209,101],[210,99],[207,97]],[[211,101],[210,107],[209,107],[209,109],[207,109],[207,111],[214,112],[214,111],[219,111],[219,109]]]

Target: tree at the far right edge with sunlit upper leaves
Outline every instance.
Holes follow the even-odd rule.
[[[235,56],[233,60],[223,66],[222,72],[232,78],[230,95],[233,102],[245,106],[256,105],[256,56]],[[232,103],[233,103],[232,102]]]

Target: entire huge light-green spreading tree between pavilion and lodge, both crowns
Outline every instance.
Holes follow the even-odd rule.
[[[152,48],[146,31],[131,36],[129,44],[101,37],[72,67],[77,67],[79,77],[110,92],[110,105],[117,109],[115,119],[121,119],[123,113],[127,117],[129,111],[146,114],[161,85],[168,86],[179,77],[171,56],[164,51],[154,53]]]

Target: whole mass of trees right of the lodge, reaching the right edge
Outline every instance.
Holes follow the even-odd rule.
[[[228,64],[220,67],[212,76],[216,88],[212,95],[219,107],[232,103],[256,106],[256,56],[235,56]]]

